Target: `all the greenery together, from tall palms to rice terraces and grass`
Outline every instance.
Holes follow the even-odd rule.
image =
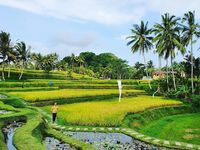
[[[14,134],[14,145],[20,150],[27,149],[24,145],[45,149],[47,136],[77,149],[95,149],[52,126],[50,108],[57,102],[57,124],[65,129],[115,127],[122,132],[129,128],[165,143],[200,144],[200,57],[194,55],[200,26],[195,19],[190,11],[182,18],[166,13],[152,27],[144,21],[134,24],[127,45],[144,61],[133,66],[112,53],[85,51],[63,58],[57,53],[35,53],[26,42],[14,42],[10,33],[1,31],[0,129],[14,121],[24,122]],[[153,50],[166,61],[165,66],[156,68],[146,59]],[[179,54],[182,59],[176,62]],[[173,148],[184,145],[191,146]],[[7,149],[2,130],[0,149]]]

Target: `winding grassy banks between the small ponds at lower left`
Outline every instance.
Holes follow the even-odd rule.
[[[15,108],[11,105],[7,105],[3,102],[7,102],[10,104],[12,99],[15,99],[18,108]],[[2,133],[2,128],[13,121],[24,121],[25,125],[18,128],[14,135],[14,145],[19,150],[42,150],[45,149],[44,137],[52,136],[58,138],[64,143],[69,143],[70,145],[75,146],[77,149],[94,149],[91,145],[80,142],[71,137],[66,137],[62,135],[60,132],[52,129],[50,126],[44,126],[44,120],[42,119],[42,115],[38,113],[34,108],[24,106],[23,102],[20,99],[16,99],[13,97],[8,97],[0,101],[0,109],[12,111],[9,114],[3,114],[0,116],[0,149],[7,150],[7,145],[4,143],[4,136]]]

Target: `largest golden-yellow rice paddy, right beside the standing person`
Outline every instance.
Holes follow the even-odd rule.
[[[119,126],[127,113],[136,113],[148,108],[181,105],[175,100],[166,100],[162,97],[138,96],[106,100],[101,102],[84,102],[59,106],[58,117],[67,123],[92,126]],[[47,112],[50,106],[43,108]]]

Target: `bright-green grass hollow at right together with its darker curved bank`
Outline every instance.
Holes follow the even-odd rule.
[[[200,144],[200,114],[194,109],[164,107],[127,115],[123,126],[169,141]]]

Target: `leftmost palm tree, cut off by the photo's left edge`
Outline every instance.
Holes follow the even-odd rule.
[[[10,50],[10,34],[4,31],[0,33],[0,59],[2,59],[2,80],[5,80],[4,70],[5,70],[5,61],[7,58],[8,51]]]

